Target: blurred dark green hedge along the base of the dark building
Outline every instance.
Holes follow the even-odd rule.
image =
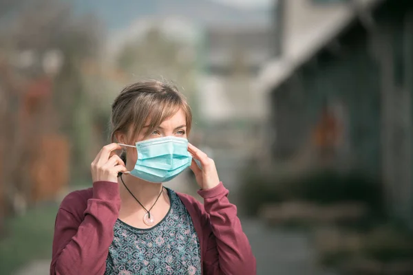
[[[366,203],[374,216],[383,216],[381,182],[358,172],[317,170],[293,175],[273,171],[247,173],[244,179],[241,197],[248,214],[256,214],[265,203],[301,200],[324,205],[361,202]]]

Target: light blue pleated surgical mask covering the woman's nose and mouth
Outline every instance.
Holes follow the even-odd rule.
[[[135,147],[127,144],[122,146]],[[158,137],[136,142],[138,159],[130,175],[150,182],[170,181],[191,166],[188,140],[182,137]]]

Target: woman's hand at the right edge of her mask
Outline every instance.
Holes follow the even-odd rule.
[[[195,174],[195,179],[202,190],[208,190],[218,186],[220,179],[218,178],[215,162],[210,159],[206,153],[200,151],[192,144],[188,144],[188,151],[193,156],[191,170]],[[195,160],[201,163],[202,168],[198,167]]]

